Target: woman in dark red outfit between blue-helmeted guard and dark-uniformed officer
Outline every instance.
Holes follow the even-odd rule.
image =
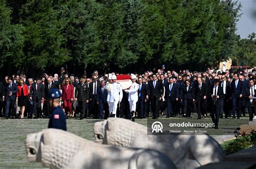
[[[72,102],[74,98],[74,86],[71,84],[70,78],[65,78],[65,84],[62,88],[62,100],[64,104],[66,118],[68,118],[68,112],[70,112],[70,117],[73,117],[72,113]]]

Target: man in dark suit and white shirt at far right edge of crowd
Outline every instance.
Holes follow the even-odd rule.
[[[253,79],[248,80],[249,87],[247,87],[244,91],[242,97],[248,103],[248,112],[249,112],[249,120],[252,121],[253,114],[256,113],[256,99],[255,99],[255,92],[256,88],[254,87]]]

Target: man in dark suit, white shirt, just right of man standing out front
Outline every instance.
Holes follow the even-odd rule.
[[[223,109],[225,113],[225,118],[228,117],[230,110],[232,109],[232,103],[230,100],[231,97],[231,84],[230,82],[227,82],[226,76],[221,75],[221,82],[220,86],[223,87],[223,93],[224,93],[224,98],[223,98]],[[220,118],[223,118],[223,110],[220,111]]]

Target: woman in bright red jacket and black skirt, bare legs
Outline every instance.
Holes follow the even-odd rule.
[[[16,102],[18,102],[19,109],[21,109],[21,119],[24,118],[25,106],[28,105],[28,95],[28,86],[24,84],[22,79],[19,80]]]

